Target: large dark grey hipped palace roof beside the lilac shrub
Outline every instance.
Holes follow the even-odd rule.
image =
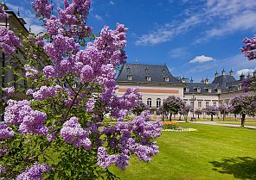
[[[128,80],[128,76],[132,76],[132,80]],[[151,78],[151,81],[147,81],[147,77]],[[169,78],[169,82],[166,82],[164,78]],[[125,64],[119,71],[118,83],[146,83],[146,84],[180,84],[180,82],[174,78],[166,65],[144,65],[144,64]]]

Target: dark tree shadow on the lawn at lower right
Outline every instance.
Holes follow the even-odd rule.
[[[235,178],[256,180],[256,158],[223,158],[221,162],[213,161],[209,163],[214,165],[214,171],[233,174]]]

